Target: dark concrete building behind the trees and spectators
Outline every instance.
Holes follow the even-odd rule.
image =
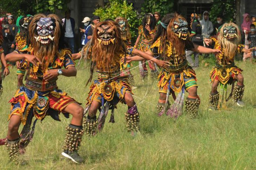
[[[157,1],[157,0],[156,0]],[[79,37],[77,45],[80,43],[79,27],[82,27],[82,19],[86,16],[92,17],[94,9],[99,5],[104,5],[108,0],[71,0],[68,7],[71,10],[71,16],[75,19],[75,31]],[[133,7],[140,13],[140,8],[144,0],[127,0],[128,3],[133,3]],[[205,10],[210,11],[213,0],[176,0],[174,4],[175,11],[190,19],[190,14],[195,12],[202,14]],[[241,0],[240,21],[243,21],[242,14],[244,13],[256,15],[255,0]],[[59,14],[61,16],[61,14]],[[62,14],[63,16],[63,14]]]

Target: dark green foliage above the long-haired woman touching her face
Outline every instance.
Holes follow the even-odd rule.
[[[146,0],[142,5],[141,14],[159,12],[161,17],[173,12],[174,0]]]

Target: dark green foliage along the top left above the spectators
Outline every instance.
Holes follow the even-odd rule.
[[[38,14],[55,9],[66,10],[70,0],[1,0],[0,9],[11,12],[14,15]],[[18,10],[17,10],[18,9]]]

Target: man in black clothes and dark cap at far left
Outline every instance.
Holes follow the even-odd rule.
[[[4,54],[7,55],[14,51],[15,49],[15,36],[18,32],[18,27],[14,23],[14,16],[7,16],[8,26],[7,28],[2,29],[2,35],[4,36],[4,40],[2,43],[2,47],[4,49]]]

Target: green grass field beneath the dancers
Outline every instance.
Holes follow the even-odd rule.
[[[205,63],[209,66],[205,66]],[[124,112],[127,107],[118,105],[116,123],[107,123],[103,131],[93,138],[83,136],[80,155],[84,164],[74,164],[61,156],[65,138],[62,121],[50,117],[36,124],[33,141],[26,148],[29,165],[19,169],[256,169],[256,65],[236,61],[244,72],[245,107],[228,102],[228,109],[208,111],[210,92],[209,72],[214,60],[200,60],[196,70],[198,95],[201,97],[198,119],[183,114],[176,122],[166,116],[156,117],[158,101],[156,82],[142,83],[138,68],[132,70],[137,89],[134,98],[141,113],[141,131],[135,137],[126,132]],[[7,133],[9,99],[16,90],[15,68],[3,81],[4,93],[0,98],[0,137]],[[80,67],[76,77],[60,77],[59,88],[85,106],[89,86],[85,87],[89,72]],[[228,94],[230,87],[228,89]],[[187,94],[186,94],[187,95]],[[20,128],[20,130],[22,127]],[[15,169],[8,163],[4,146],[0,147],[0,169]]]

